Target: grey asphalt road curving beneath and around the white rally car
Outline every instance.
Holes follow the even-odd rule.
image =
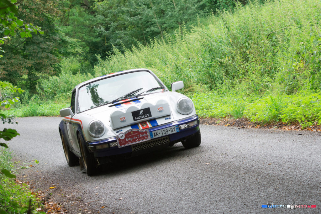
[[[18,118],[0,129],[21,134],[8,143],[17,167],[34,166],[19,177],[69,213],[321,213],[321,133],[201,125],[198,148],[178,143],[87,176],[66,163],[60,120]]]

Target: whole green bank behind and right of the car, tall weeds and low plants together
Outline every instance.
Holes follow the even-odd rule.
[[[238,5],[233,13],[198,20],[184,36],[178,30],[165,42],[125,53],[114,48],[106,60],[98,56],[93,75],[65,68],[60,76],[39,81],[38,90],[46,99],[63,100],[93,76],[143,67],[167,87],[183,80],[183,93],[193,97],[200,116],[239,117],[235,110],[241,109],[258,122],[320,123],[320,21],[317,0]]]

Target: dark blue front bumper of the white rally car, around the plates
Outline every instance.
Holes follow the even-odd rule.
[[[193,123],[193,122],[195,125],[184,127],[185,124],[189,124],[189,123]],[[193,117],[179,120],[179,121],[175,121],[173,123],[163,124],[163,125],[149,128],[148,132],[149,132],[149,134],[151,134],[154,131],[161,130],[161,129],[168,128],[168,127],[175,126],[175,125],[178,125],[179,127],[183,128],[183,129],[180,129],[176,133],[164,135],[160,138],[168,136],[169,142],[179,142],[180,139],[190,136],[199,130],[199,127],[198,127],[199,126],[199,118],[197,115],[195,115]],[[159,139],[159,138],[153,138],[152,140],[155,140],[155,139]],[[121,148],[118,148],[118,146],[110,147],[110,145],[113,145],[115,143],[117,144],[116,136],[114,138],[109,138],[109,139],[102,140],[102,141],[87,142],[87,143],[88,143],[89,150],[97,158],[133,152],[132,146],[130,146],[130,145],[125,146],[125,147],[121,147]],[[133,144],[133,145],[135,145],[135,144]],[[108,147],[108,148],[103,148],[103,147]],[[97,148],[103,148],[103,149],[97,149]]]

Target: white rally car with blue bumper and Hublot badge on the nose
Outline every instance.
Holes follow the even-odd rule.
[[[60,110],[59,133],[69,166],[88,175],[113,158],[127,158],[182,142],[199,146],[199,118],[191,99],[172,91],[148,69],[110,73],[77,85]]]

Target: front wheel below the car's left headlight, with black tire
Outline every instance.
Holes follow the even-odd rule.
[[[94,156],[88,151],[85,141],[83,140],[80,133],[78,133],[78,142],[81,150],[81,159],[84,170],[87,175],[93,175],[96,169],[96,161]]]

